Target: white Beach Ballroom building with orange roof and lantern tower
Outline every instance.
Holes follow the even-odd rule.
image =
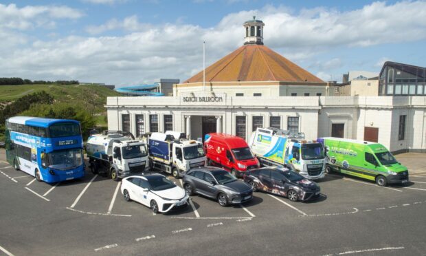
[[[277,127],[308,139],[336,136],[425,151],[425,96],[324,96],[327,83],[264,46],[262,28],[262,21],[247,21],[245,45],[208,67],[205,83],[200,72],[175,85],[174,96],[109,97],[109,129],[135,136],[177,130],[201,140],[225,132],[248,140],[256,127]]]

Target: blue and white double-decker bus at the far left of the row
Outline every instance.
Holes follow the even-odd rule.
[[[47,183],[85,175],[80,122],[14,116],[6,120],[6,158],[16,170]]]

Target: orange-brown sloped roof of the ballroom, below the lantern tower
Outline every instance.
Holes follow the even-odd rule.
[[[269,49],[247,44],[205,69],[206,82],[279,81],[324,83],[320,78]],[[203,71],[183,83],[203,82]]]

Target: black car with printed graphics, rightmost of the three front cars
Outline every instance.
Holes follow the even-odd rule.
[[[253,191],[282,195],[289,200],[306,201],[320,195],[320,186],[288,169],[260,168],[246,171],[244,181]]]

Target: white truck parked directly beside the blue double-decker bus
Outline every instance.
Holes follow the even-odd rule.
[[[148,168],[146,144],[134,140],[130,133],[104,131],[103,134],[93,134],[87,140],[86,152],[92,172],[115,181]]]

